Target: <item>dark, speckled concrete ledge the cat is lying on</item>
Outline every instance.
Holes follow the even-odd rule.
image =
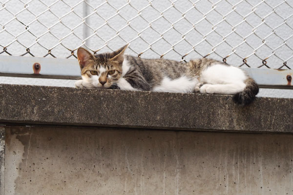
[[[293,133],[293,99],[0,85],[0,123]]]

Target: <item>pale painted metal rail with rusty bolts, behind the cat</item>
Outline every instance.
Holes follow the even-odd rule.
[[[261,88],[293,89],[293,70],[242,68]],[[0,56],[0,76],[57,78],[81,77],[77,59]]]

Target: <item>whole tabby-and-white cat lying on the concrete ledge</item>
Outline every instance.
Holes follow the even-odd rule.
[[[141,59],[124,52],[128,45],[112,53],[92,55],[77,51],[82,80],[78,88],[121,89],[173,93],[234,95],[234,102],[250,104],[258,85],[243,70],[214,59],[178,62],[168,59]]]

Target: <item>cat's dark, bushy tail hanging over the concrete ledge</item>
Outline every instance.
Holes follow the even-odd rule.
[[[258,85],[252,78],[247,78],[244,82],[246,84],[244,90],[233,97],[233,101],[240,105],[250,104],[258,93]]]

